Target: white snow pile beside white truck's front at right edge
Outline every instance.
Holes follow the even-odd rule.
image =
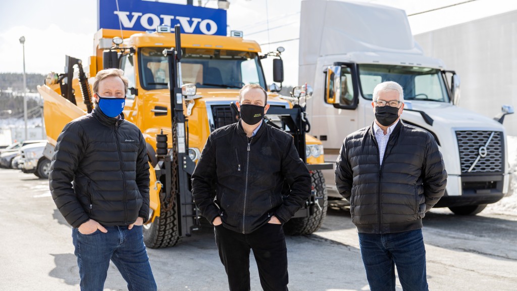
[[[513,169],[513,179],[510,185],[510,194],[497,203],[489,204],[483,213],[495,213],[517,216],[517,136],[507,136],[508,142],[508,162]]]

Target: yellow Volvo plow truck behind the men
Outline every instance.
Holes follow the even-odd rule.
[[[121,37],[119,37],[121,35]],[[38,90],[44,98],[45,128],[52,155],[66,123],[92,111],[91,84],[97,71],[120,68],[129,79],[125,119],[144,134],[150,167],[150,216],[144,241],[150,248],[177,244],[202,226],[190,176],[212,130],[239,120],[233,101],[240,88],[256,83],[266,88],[261,60],[273,57],[273,83],[268,92],[268,124],[293,135],[300,158],[312,177],[312,195],[305,207],[284,225],[287,234],[311,234],[327,210],[323,146],[307,134],[306,101],[310,86],[295,87],[291,96],[278,92],[283,81],[281,52],[260,55],[255,41],[232,36],[180,34],[168,26],[153,33],[101,29],[95,35],[95,53],[88,68],[66,56],[64,74],[51,73]],[[181,40],[180,40],[181,39]],[[77,71],[74,72],[74,68]],[[170,84],[170,85],[169,85]],[[80,92],[80,94],[75,94]],[[288,193],[288,186],[284,187]]]

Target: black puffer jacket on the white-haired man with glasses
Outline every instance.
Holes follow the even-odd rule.
[[[336,167],[339,193],[350,201],[359,232],[386,234],[419,229],[422,217],[444,195],[442,154],[434,137],[400,121],[391,133],[383,164],[372,126],[343,141]]]

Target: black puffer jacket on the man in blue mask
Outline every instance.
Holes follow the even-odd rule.
[[[68,123],[57,138],[50,190],[59,212],[75,228],[89,219],[121,226],[149,216],[145,140],[121,116],[117,120],[94,110]]]

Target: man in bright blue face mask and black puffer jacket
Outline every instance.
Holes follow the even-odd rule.
[[[129,290],[156,290],[142,224],[149,217],[149,166],[140,129],[124,120],[128,79],[120,69],[95,77],[96,107],[68,123],[49,175],[59,212],[72,226],[81,290],[102,290],[110,260]]]

